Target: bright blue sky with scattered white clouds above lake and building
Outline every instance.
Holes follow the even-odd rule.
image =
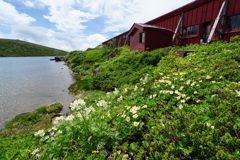
[[[0,38],[86,50],[193,0],[0,0]]]

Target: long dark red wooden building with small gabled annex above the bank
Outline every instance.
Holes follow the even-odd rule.
[[[240,0],[195,0],[103,42],[131,50],[153,50],[171,45],[209,43],[240,35]]]

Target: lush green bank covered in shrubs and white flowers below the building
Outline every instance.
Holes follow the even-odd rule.
[[[169,47],[169,53],[121,47],[110,60],[111,50],[100,46],[70,52],[66,61],[79,73],[70,89],[82,98],[54,127],[0,139],[0,159],[238,160],[236,39]],[[175,49],[195,52],[181,58]],[[92,76],[96,68],[102,71]]]

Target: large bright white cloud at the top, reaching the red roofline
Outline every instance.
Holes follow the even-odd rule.
[[[59,30],[79,32],[85,22],[104,17],[103,32],[128,30],[133,23],[145,23],[193,0],[33,0],[47,7],[44,17]],[[36,5],[35,5],[36,6]]]

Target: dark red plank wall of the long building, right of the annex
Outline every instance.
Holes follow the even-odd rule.
[[[200,42],[202,23],[210,22],[211,27],[213,26],[215,18],[217,17],[224,0],[212,0],[212,1],[202,0],[202,1],[205,3],[196,5],[194,8],[189,7],[189,9],[184,12],[183,27],[198,24],[198,34],[195,36],[183,37],[182,45]],[[229,0],[226,17],[239,13],[240,13],[240,0]],[[177,27],[181,14],[182,13],[178,10],[176,12],[172,12],[166,15],[167,17],[166,19],[164,19],[164,16],[159,17],[159,20],[155,19],[152,22],[151,21],[148,22],[148,24],[156,25],[158,27],[164,27],[174,31]],[[240,33],[239,30],[232,32],[224,31],[223,40],[229,41],[230,37],[239,35],[239,33]],[[215,38],[216,36],[214,35],[213,39]]]

